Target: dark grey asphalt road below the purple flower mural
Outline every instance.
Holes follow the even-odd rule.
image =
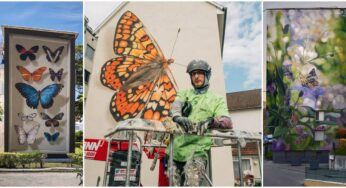
[[[291,166],[263,161],[263,186],[303,186],[305,165]]]

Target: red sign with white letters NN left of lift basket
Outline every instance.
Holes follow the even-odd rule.
[[[84,139],[85,159],[106,161],[108,142],[105,139]]]

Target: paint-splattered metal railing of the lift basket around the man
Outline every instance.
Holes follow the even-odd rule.
[[[108,140],[108,149],[107,149],[107,158],[106,162],[109,162],[109,152],[111,147],[112,140],[117,140],[119,138],[119,134],[123,131],[126,131],[128,134],[126,135],[126,138],[124,138],[124,135],[120,136],[120,139],[127,139],[129,141],[128,145],[128,156],[127,156],[127,171],[126,171],[126,182],[125,186],[130,185],[130,168],[131,168],[131,155],[132,155],[132,147],[133,147],[133,139],[136,136],[140,140],[140,152],[142,152],[143,147],[157,147],[157,144],[146,144],[143,146],[143,141],[140,139],[138,135],[143,134],[143,132],[157,132],[157,133],[165,133],[169,134],[169,140],[170,144],[168,146],[164,146],[160,144],[160,147],[169,147],[169,151],[172,154],[173,153],[173,141],[174,136],[179,135],[177,132],[170,132],[167,131],[165,126],[159,122],[159,121],[149,121],[149,120],[143,120],[143,119],[128,119],[122,122],[118,122],[117,125],[108,131],[108,133],[105,135],[105,138]],[[188,133],[186,133],[188,134]],[[194,134],[195,135],[195,134]],[[262,134],[261,133],[255,133],[255,132],[247,132],[247,131],[236,131],[236,130],[211,130],[211,132],[203,134],[203,136],[208,136],[212,138],[219,138],[224,140],[231,140],[233,143],[237,143],[238,148],[238,160],[239,162],[239,174],[240,174],[240,185],[244,186],[244,179],[243,179],[243,173],[241,172],[242,165],[241,165],[241,148],[245,147],[247,141],[257,142],[257,148],[258,148],[258,158],[261,163],[261,140],[262,140]],[[214,142],[215,143],[215,142]],[[222,142],[222,145],[223,142]],[[173,155],[169,155],[169,163],[168,163],[168,172],[169,172],[169,186],[173,186]],[[262,172],[261,164],[260,166],[260,172]],[[262,174],[260,174],[262,177]],[[105,171],[104,171],[104,179],[103,179],[103,186],[107,185],[108,180],[108,164],[105,165]]]

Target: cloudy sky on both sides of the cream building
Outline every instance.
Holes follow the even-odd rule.
[[[227,7],[223,51],[226,92],[259,89],[262,79],[261,2],[218,3]],[[96,29],[119,4],[87,2],[85,14],[90,26]]]

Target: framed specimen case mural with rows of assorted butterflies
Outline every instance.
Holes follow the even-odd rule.
[[[7,26],[4,31],[5,151],[73,152],[76,33]],[[32,122],[40,126],[30,129]]]

